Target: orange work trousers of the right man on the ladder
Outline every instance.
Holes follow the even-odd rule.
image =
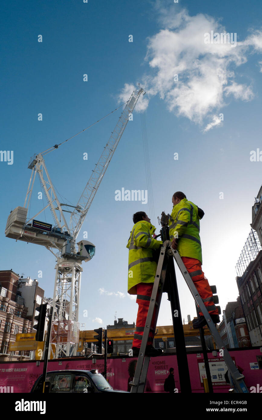
[[[217,307],[214,304],[214,298],[212,294],[212,290],[208,283],[207,278],[204,276],[202,271],[202,264],[199,260],[190,257],[181,257],[184,265],[186,266],[187,271],[190,274],[191,279],[196,286],[196,290],[198,291],[202,301],[204,302],[205,307],[207,308],[210,315],[218,315]],[[199,315],[203,315],[202,312],[199,310]]]

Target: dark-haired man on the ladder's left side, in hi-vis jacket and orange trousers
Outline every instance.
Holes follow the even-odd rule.
[[[154,249],[162,245],[162,241],[152,238],[155,226],[150,223],[149,217],[143,211],[133,215],[134,226],[130,232],[128,244],[128,293],[136,294],[138,312],[136,318],[136,332],[133,340],[133,356],[138,356],[141,346],[144,327],[147,319],[150,298],[152,295],[157,263],[154,261]],[[155,310],[151,326],[155,322]],[[147,341],[146,356],[159,356],[162,349],[153,347],[155,331],[150,330]]]

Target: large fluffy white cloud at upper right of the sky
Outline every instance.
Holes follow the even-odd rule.
[[[248,54],[262,53],[262,31],[237,40],[236,45],[206,44],[204,34],[227,32],[219,20],[201,13],[189,16],[186,9],[168,6],[165,1],[157,0],[155,8],[162,29],[148,37],[145,61],[152,71],[140,81],[147,101],[159,94],[175,115],[199,124],[207,119],[203,131],[208,131],[221,124],[214,113],[222,112],[224,97],[232,94],[235,99],[253,99],[252,87],[237,83],[235,71],[246,63]],[[175,74],[178,81],[174,81]],[[128,100],[134,89],[133,84],[125,84],[119,98]]]

